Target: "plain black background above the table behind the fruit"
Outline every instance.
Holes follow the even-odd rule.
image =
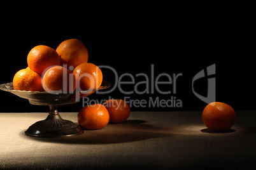
[[[206,103],[192,92],[192,78],[216,63],[216,100],[235,110],[255,109],[255,3],[204,1],[145,4],[68,4],[50,8],[42,4],[34,9],[11,8],[2,15],[1,79],[11,82],[13,75],[27,67],[27,54],[39,44],[54,49],[60,42],[80,39],[89,51],[89,62],[109,65],[118,75],[145,73],[155,77],[163,72],[182,73],[176,82],[176,94],[124,95],[115,89],[107,95],[91,95],[90,100],[129,97],[167,100],[175,96],[182,107],[132,107],[132,111],[203,110]],[[41,7],[41,8],[39,8]],[[53,13],[54,12],[54,13]],[[164,77],[160,81],[166,81]],[[103,69],[104,81],[115,83],[110,70]],[[123,79],[125,81],[125,79]],[[126,81],[130,81],[126,79]],[[137,77],[135,82],[145,81]],[[194,84],[197,93],[206,96],[207,79]],[[151,87],[151,86],[150,86]],[[124,86],[130,91],[132,85]],[[163,91],[173,86],[161,85]],[[145,89],[141,85],[141,90]],[[46,106],[0,91],[0,112],[48,112]],[[82,102],[60,106],[60,112],[78,112]]]

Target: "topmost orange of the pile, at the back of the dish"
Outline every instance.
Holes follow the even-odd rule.
[[[73,70],[80,63],[88,61],[88,51],[83,42],[78,39],[68,39],[61,42],[56,51],[60,56],[61,64],[67,64],[69,70]]]

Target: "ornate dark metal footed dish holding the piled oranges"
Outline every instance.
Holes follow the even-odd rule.
[[[58,105],[76,103],[78,98],[88,96],[97,90],[106,89],[111,86],[110,82],[103,81],[97,89],[89,91],[74,91],[73,93],[48,93],[46,91],[19,91],[13,88],[13,83],[0,84],[0,89],[8,91],[21,98],[29,100],[32,105],[48,105],[50,112],[43,121],[32,124],[25,134],[39,137],[59,137],[82,134],[83,129],[72,121],[64,120],[58,112]]]

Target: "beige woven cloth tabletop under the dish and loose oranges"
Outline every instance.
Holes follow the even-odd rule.
[[[77,123],[77,113],[60,113]],[[25,130],[47,113],[0,113],[0,169],[248,169],[256,167],[256,111],[236,111],[213,133],[201,112],[131,112],[78,136],[37,138]]]

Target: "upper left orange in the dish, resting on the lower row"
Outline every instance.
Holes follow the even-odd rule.
[[[29,69],[42,75],[48,67],[60,65],[60,57],[53,48],[39,45],[29,51],[27,65],[29,65]]]

